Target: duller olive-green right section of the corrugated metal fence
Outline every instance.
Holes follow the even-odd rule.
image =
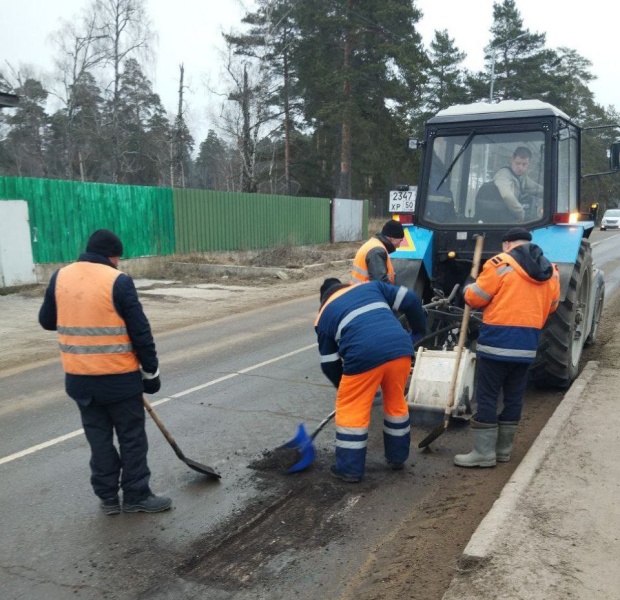
[[[175,189],[177,252],[327,243],[330,210],[328,198]]]

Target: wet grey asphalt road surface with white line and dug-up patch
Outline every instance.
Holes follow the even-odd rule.
[[[615,236],[592,240],[608,298],[620,279]],[[158,337],[165,376],[151,400],[183,452],[222,474],[214,482],[188,469],[149,422],[152,487],[174,500],[158,515],[100,513],[59,363],[0,379],[1,597],[441,598],[460,549],[562,394],[528,392],[514,460],[492,470],[453,467],[453,454],[469,449],[458,423],[419,451],[432,425],[414,414],[412,460],[388,471],[379,406],[360,484],[329,476],[331,426],[308,471],[248,468],[333,408],[315,311],[313,294]],[[606,317],[617,313],[608,301]]]

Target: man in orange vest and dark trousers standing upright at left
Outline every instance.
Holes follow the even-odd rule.
[[[91,449],[91,484],[108,515],[160,512],[172,505],[149,487],[142,394],[161,383],[151,327],[133,280],[117,270],[121,240],[95,231],[77,262],[56,271],[39,311],[56,330],[67,394],[80,410]],[[114,445],[114,434],[120,452]]]

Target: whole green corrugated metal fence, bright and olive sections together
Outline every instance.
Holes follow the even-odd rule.
[[[124,258],[330,241],[328,198],[0,177],[1,200],[26,200],[35,263],[70,262],[95,229]]]

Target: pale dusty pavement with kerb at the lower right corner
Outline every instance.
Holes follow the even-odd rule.
[[[618,356],[618,335],[609,346]],[[443,600],[617,598],[619,430],[617,368],[590,362],[480,523]]]

